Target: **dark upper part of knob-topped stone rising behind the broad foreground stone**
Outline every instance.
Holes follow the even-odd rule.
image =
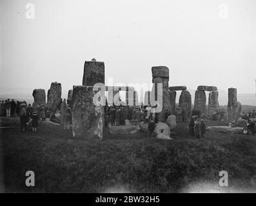
[[[85,61],[83,86],[94,86],[94,84],[104,84],[104,82],[104,62]]]

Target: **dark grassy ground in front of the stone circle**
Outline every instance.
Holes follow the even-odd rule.
[[[6,192],[256,192],[256,136],[196,140],[178,123],[174,140],[104,131],[104,140],[88,141],[53,124],[37,133],[21,133],[16,120],[1,118],[1,126],[9,127],[0,131]],[[25,185],[28,170],[35,187]],[[228,187],[219,186],[223,170]]]

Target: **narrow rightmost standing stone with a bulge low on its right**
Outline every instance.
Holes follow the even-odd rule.
[[[237,102],[237,89],[228,89],[228,122],[236,122],[241,115],[242,104]]]

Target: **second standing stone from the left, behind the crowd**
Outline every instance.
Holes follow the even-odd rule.
[[[56,110],[59,102],[61,102],[61,83],[52,82],[48,89],[46,106]]]

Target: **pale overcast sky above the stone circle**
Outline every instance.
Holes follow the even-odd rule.
[[[168,66],[170,86],[255,93],[254,0],[0,0],[0,17],[1,88],[68,90],[95,58],[114,84],[151,83],[152,66]]]

